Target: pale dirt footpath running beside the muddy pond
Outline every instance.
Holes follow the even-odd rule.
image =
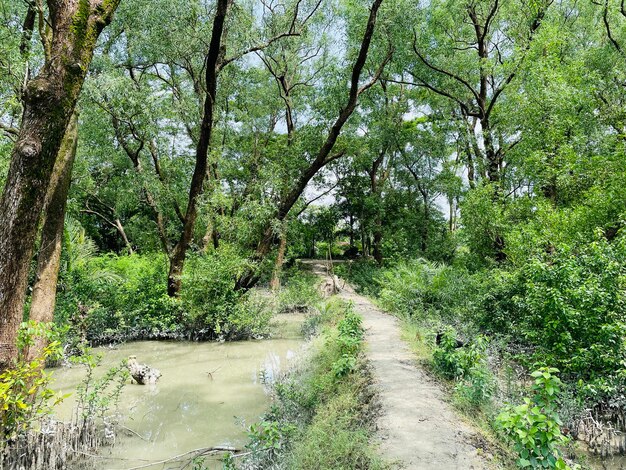
[[[327,279],[326,267],[308,262]],[[400,468],[454,470],[492,468],[471,443],[480,441],[446,403],[446,393],[417,365],[401,339],[398,320],[340,283],[338,296],[354,303],[366,329],[366,351],[382,405],[380,451]]]

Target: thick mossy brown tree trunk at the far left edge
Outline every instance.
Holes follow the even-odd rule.
[[[28,270],[52,170],[96,41],[119,1],[48,0],[45,61],[23,93],[21,128],[0,200],[0,370],[17,358]]]

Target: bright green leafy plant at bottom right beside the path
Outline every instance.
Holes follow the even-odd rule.
[[[561,433],[562,423],[557,413],[561,391],[557,372],[551,367],[533,372],[532,395],[524,398],[521,405],[507,405],[496,418],[498,428],[518,453],[520,468],[570,468],[559,451],[568,438]]]

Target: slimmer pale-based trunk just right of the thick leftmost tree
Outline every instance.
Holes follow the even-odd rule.
[[[59,150],[50,186],[46,196],[44,224],[41,231],[41,246],[37,257],[37,276],[33,286],[29,320],[50,323],[54,318],[57,280],[61,263],[63,227],[67,193],[72,180],[72,168],[78,143],[78,118],[72,117]],[[28,348],[26,359],[32,361],[46,347],[44,338],[35,338]]]

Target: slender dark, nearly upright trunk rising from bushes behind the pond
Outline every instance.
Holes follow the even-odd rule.
[[[185,266],[185,258],[193,231],[198,218],[198,199],[204,191],[204,180],[208,169],[208,153],[213,134],[213,116],[215,109],[215,98],[217,95],[217,76],[219,72],[219,62],[225,53],[222,44],[224,24],[228,9],[232,0],[218,0],[215,17],[213,19],[213,31],[211,33],[211,43],[205,59],[206,67],[206,87],[207,93],[204,100],[204,114],[200,127],[200,137],[196,146],[196,166],[191,178],[191,188],[189,190],[189,201],[187,212],[183,222],[180,239],[172,250],[170,256],[170,270],[167,277],[167,293],[170,297],[177,297],[182,286],[181,275]]]

